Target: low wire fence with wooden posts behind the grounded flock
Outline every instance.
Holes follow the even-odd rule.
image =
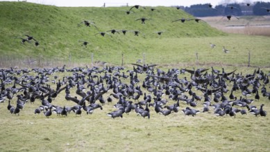
[[[106,63],[106,61],[101,61],[98,57],[94,57],[94,53],[91,53],[90,57],[86,59],[75,59],[69,54],[67,57],[55,58],[55,57],[43,57],[40,55],[39,57],[15,57],[15,56],[0,56],[0,68],[51,68],[51,67],[61,67],[63,65],[67,65],[68,67],[83,67],[83,66],[104,66],[104,65],[114,65],[114,66],[128,66],[131,63],[137,64],[160,64],[160,66],[248,66],[253,67],[251,65],[251,51],[248,51],[248,55],[246,57],[246,63],[235,63],[226,64],[226,61],[211,61],[205,62],[205,60],[201,59],[198,52],[195,53],[194,58],[189,62],[177,62],[177,63],[165,63],[164,60],[160,61],[160,63],[155,63],[155,60],[152,60],[147,57],[151,57],[151,55],[146,55],[146,53],[142,53],[142,55],[137,56],[137,59],[134,57],[128,56],[128,54],[121,53],[119,56],[115,56],[115,63]],[[147,58],[147,61],[146,61]],[[203,57],[201,57],[203,58]],[[167,58],[164,58],[167,60]],[[150,61],[151,60],[151,61]],[[225,63],[224,63],[225,62]]]

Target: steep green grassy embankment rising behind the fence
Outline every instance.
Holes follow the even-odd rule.
[[[119,8],[59,8],[56,6],[44,6],[25,2],[0,2],[0,53],[17,57],[31,56],[53,57],[67,59],[69,54],[74,59],[89,59],[90,53],[102,61],[118,64],[115,59],[108,59],[121,53],[132,57],[142,56],[142,53],[158,43],[171,41],[171,39],[184,37],[214,37],[226,35],[219,30],[211,28],[207,23],[200,21],[176,21],[176,19],[194,18],[183,10],[171,7],[157,7],[133,9],[130,15],[126,11],[130,7]],[[145,24],[135,21],[145,17]],[[94,21],[94,26],[87,27],[81,23],[84,20]],[[81,23],[81,26],[78,24]],[[139,30],[138,37],[133,32],[124,36],[120,34],[95,35],[98,32],[108,30]],[[161,37],[155,32],[164,31]],[[33,42],[22,45],[21,39],[32,35],[40,46],[35,47]],[[85,48],[78,40],[89,41],[90,45]],[[167,42],[166,42],[167,43]],[[163,52],[163,48],[154,48],[154,53]]]

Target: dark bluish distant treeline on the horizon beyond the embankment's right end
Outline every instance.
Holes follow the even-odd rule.
[[[213,16],[223,16],[223,15],[270,15],[269,2],[256,2],[253,4],[248,3],[230,3],[227,5],[218,5],[214,8],[210,7],[210,3],[196,4],[190,7],[181,8],[195,17],[213,17]]]

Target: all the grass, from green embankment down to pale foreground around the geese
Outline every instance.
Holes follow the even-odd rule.
[[[57,8],[33,3],[0,2],[0,26],[3,27],[0,28],[0,68],[60,68],[64,64],[67,64],[67,69],[76,66],[92,68],[93,55],[93,64],[99,68],[103,66],[96,61],[105,61],[108,66],[121,66],[123,59],[124,73],[133,69],[131,64],[137,59],[144,60],[145,64],[157,64],[155,68],[164,71],[213,66],[219,70],[225,68],[226,72],[236,70],[235,74],[239,75],[251,74],[258,68],[265,75],[270,73],[269,37],[227,34],[217,30],[219,28],[213,26],[217,21],[213,20],[212,24],[211,19],[203,19],[207,23],[171,23],[182,17],[192,18],[176,8],[158,7],[158,12],[140,9],[130,15],[125,14],[126,10],[128,8],[125,7]],[[145,25],[134,21],[142,16],[150,17],[151,20],[146,21]],[[85,19],[95,21],[99,29],[83,24],[78,27],[77,24]],[[261,20],[256,17],[255,22],[248,19],[249,25],[266,23],[264,19],[268,21],[267,17]],[[239,25],[246,23],[244,19],[239,21]],[[236,23],[223,21],[217,24],[223,24],[224,27]],[[18,24],[21,26],[14,26]],[[120,34],[111,34],[112,37],[94,36],[96,32],[112,28],[140,30],[144,36],[135,37],[132,32],[128,32],[125,37]],[[161,37],[153,34],[158,30],[165,31]],[[40,41],[40,46],[20,44],[20,39],[15,37],[23,37],[24,34],[34,35]],[[81,46],[79,39],[90,41],[90,45],[87,48]],[[217,47],[210,48],[210,43]],[[223,46],[230,53],[223,53]],[[248,53],[251,54],[250,67],[247,66]],[[48,75],[48,84],[56,89],[56,84],[51,83],[53,76],[57,75],[61,80],[72,74],[65,72]],[[28,75],[35,77],[37,73],[32,71]],[[22,74],[12,76],[22,77]],[[137,85],[141,86],[146,74],[138,77],[141,82]],[[178,75],[179,79],[184,77],[190,80],[189,73]],[[121,81],[130,83],[130,79],[121,78]],[[233,82],[226,83],[230,90]],[[6,87],[11,86],[9,84]],[[265,87],[269,92],[269,84]],[[71,96],[76,96],[76,87],[70,91]],[[153,93],[144,88],[142,91],[153,96]],[[203,96],[195,88],[192,91]],[[103,98],[107,99],[110,93],[112,91],[103,95]],[[188,93],[184,94],[191,97]],[[230,92],[225,95],[228,97]],[[235,95],[241,96],[241,91],[236,91]],[[247,98],[254,99],[254,96],[252,94]],[[175,103],[166,95],[162,98],[169,101],[168,105]],[[139,101],[142,100],[143,96]],[[15,106],[16,101],[17,97],[14,97],[10,103]],[[117,102],[117,99],[113,99],[112,103],[103,105],[103,110],[96,109],[92,115],[83,112],[79,116],[71,112],[64,117],[53,113],[49,118],[42,113],[34,114],[35,108],[40,106],[40,100],[34,104],[27,103],[19,116],[7,110],[8,101],[0,103],[0,151],[270,151],[269,114],[266,117],[255,117],[251,113],[237,113],[236,117],[217,117],[210,107],[208,113],[192,117],[181,113],[188,105],[180,102],[180,111],[167,116],[155,113],[151,106],[150,119],[138,116],[135,111],[129,115],[125,113],[123,118],[112,119],[106,114],[115,111],[113,105]],[[52,103],[57,106],[75,105],[65,99],[65,92],[61,92]],[[264,110],[269,113],[269,99],[262,97],[262,94],[260,100],[252,105],[260,107],[261,104],[265,105]],[[203,101],[198,102],[195,108],[202,111]]]

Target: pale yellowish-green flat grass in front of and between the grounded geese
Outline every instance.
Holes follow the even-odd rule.
[[[227,70],[229,70],[227,68]],[[252,73],[255,68],[239,68],[237,73]],[[265,70],[265,69],[261,69]],[[269,69],[268,69],[269,70]],[[244,75],[243,73],[243,75]],[[36,75],[30,73],[29,75]],[[71,73],[56,73],[59,77]],[[53,79],[51,75],[50,79]],[[102,74],[103,75],[103,74]],[[19,75],[17,76],[19,77]],[[145,74],[139,75],[140,79]],[[180,79],[189,74],[179,75]],[[128,83],[128,79],[123,82]],[[141,85],[140,84],[137,85]],[[228,89],[232,83],[228,83]],[[51,83],[49,83],[51,84]],[[53,87],[55,84],[51,84]],[[269,85],[267,85],[269,88]],[[76,87],[71,88],[71,95],[76,95]],[[146,90],[145,93],[152,95]],[[200,91],[196,91],[202,95]],[[104,99],[112,91],[104,95]],[[185,93],[187,95],[187,93]],[[229,93],[226,93],[228,97]],[[238,97],[241,91],[235,93]],[[168,99],[167,96],[162,98]],[[254,95],[248,97],[254,99]],[[11,104],[16,103],[12,99]],[[132,100],[132,99],[131,99]],[[269,117],[255,117],[237,114],[215,116],[213,108],[208,113],[199,113],[195,117],[185,116],[180,111],[164,116],[155,113],[153,107],[151,118],[137,116],[133,111],[123,118],[112,119],[106,113],[114,111],[112,106],[117,103],[103,105],[103,110],[96,109],[92,115],[81,116],[69,113],[67,117],[53,114],[46,118],[43,114],[35,115],[34,109],[40,106],[40,101],[27,103],[19,116],[11,115],[6,109],[8,102],[0,104],[1,117],[1,151],[269,151]],[[142,97],[139,99],[142,101]],[[168,105],[175,102],[168,99]],[[135,102],[135,101],[133,101]],[[65,93],[60,93],[52,102],[57,106],[74,106],[67,102]],[[203,110],[203,102],[196,109]],[[269,99],[261,96],[260,101],[252,105],[265,104],[264,110],[270,111]],[[180,110],[187,104],[180,102]],[[240,108],[240,107],[237,107]]]

